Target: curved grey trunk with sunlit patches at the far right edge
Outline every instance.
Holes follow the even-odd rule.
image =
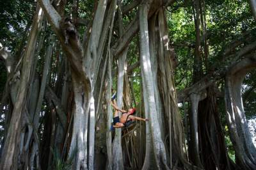
[[[236,163],[241,169],[256,169],[256,149],[244,114],[241,86],[247,72],[256,68],[256,56],[241,60],[233,66],[225,78],[225,105],[227,123]]]

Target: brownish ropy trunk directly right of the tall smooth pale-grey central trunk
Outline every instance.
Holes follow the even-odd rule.
[[[182,127],[182,119],[180,117],[179,108],[177,105],[177,94],[174,84],[173,70],[175,63],[174,49],[170,47],[168,36],[168,25],[164,8],[160,8],[156,18],[156,57],[157,57],[157,86],[161,101],[163,102],[163,114],[165,117],[164,123],[168,125],[166,131],[169,135],[170,167],[171,169],[179,167],[191,169],[186,155],[184,153],[184,135]],[[166,144],[167,145],[167,144]]]

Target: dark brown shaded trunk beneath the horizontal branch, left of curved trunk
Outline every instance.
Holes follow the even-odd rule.
[[[207,88],[207,98],[198,105],[200,156],[205,169],[234,169],[228,158],[221,127],[214,86]]]

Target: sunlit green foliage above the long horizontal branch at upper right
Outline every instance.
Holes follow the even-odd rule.
[[[191,84],[193,75],[193,45],[195,45],[195,23],[192,1],[176,1],[168,7],[167,18],[170,41],[175,48],[179,65],[175,70],[177,89]],[[248,1],[220,0],[205,1],[209,63],[220,66],[223,50],[242,33],[255,28]],[[236,50],[239,50],[238,47]],[[214,63],[214,65],[212,65]]]

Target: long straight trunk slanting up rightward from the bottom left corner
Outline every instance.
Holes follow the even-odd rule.
[[[44,15],[42,12],[42,8],[39,8],[39,6],[37,6],[36,15],[33,19],[31,33],[28,39],[28,45],[24,54],[21,72],[22,74],[20,76],[20,86],[17,93],[17,102],[12,112],[10,126],[8,127],[8,134],[4,143],[0,164],[1,169],[12,169],[17,165],[17,160],[13,159],[13,157],[15,157],[15,154],[17,154],[17,150],[19,147],[17,143],[19,143],[20,140],[20,123],[22,118],[22,111],[24,109],[24,102],[26,101],[28,83],[31,78],[31,68],[34,61],[33,56],[36,45],[35,42],[38,38],[38,33],[41,28],[43,17]]]

